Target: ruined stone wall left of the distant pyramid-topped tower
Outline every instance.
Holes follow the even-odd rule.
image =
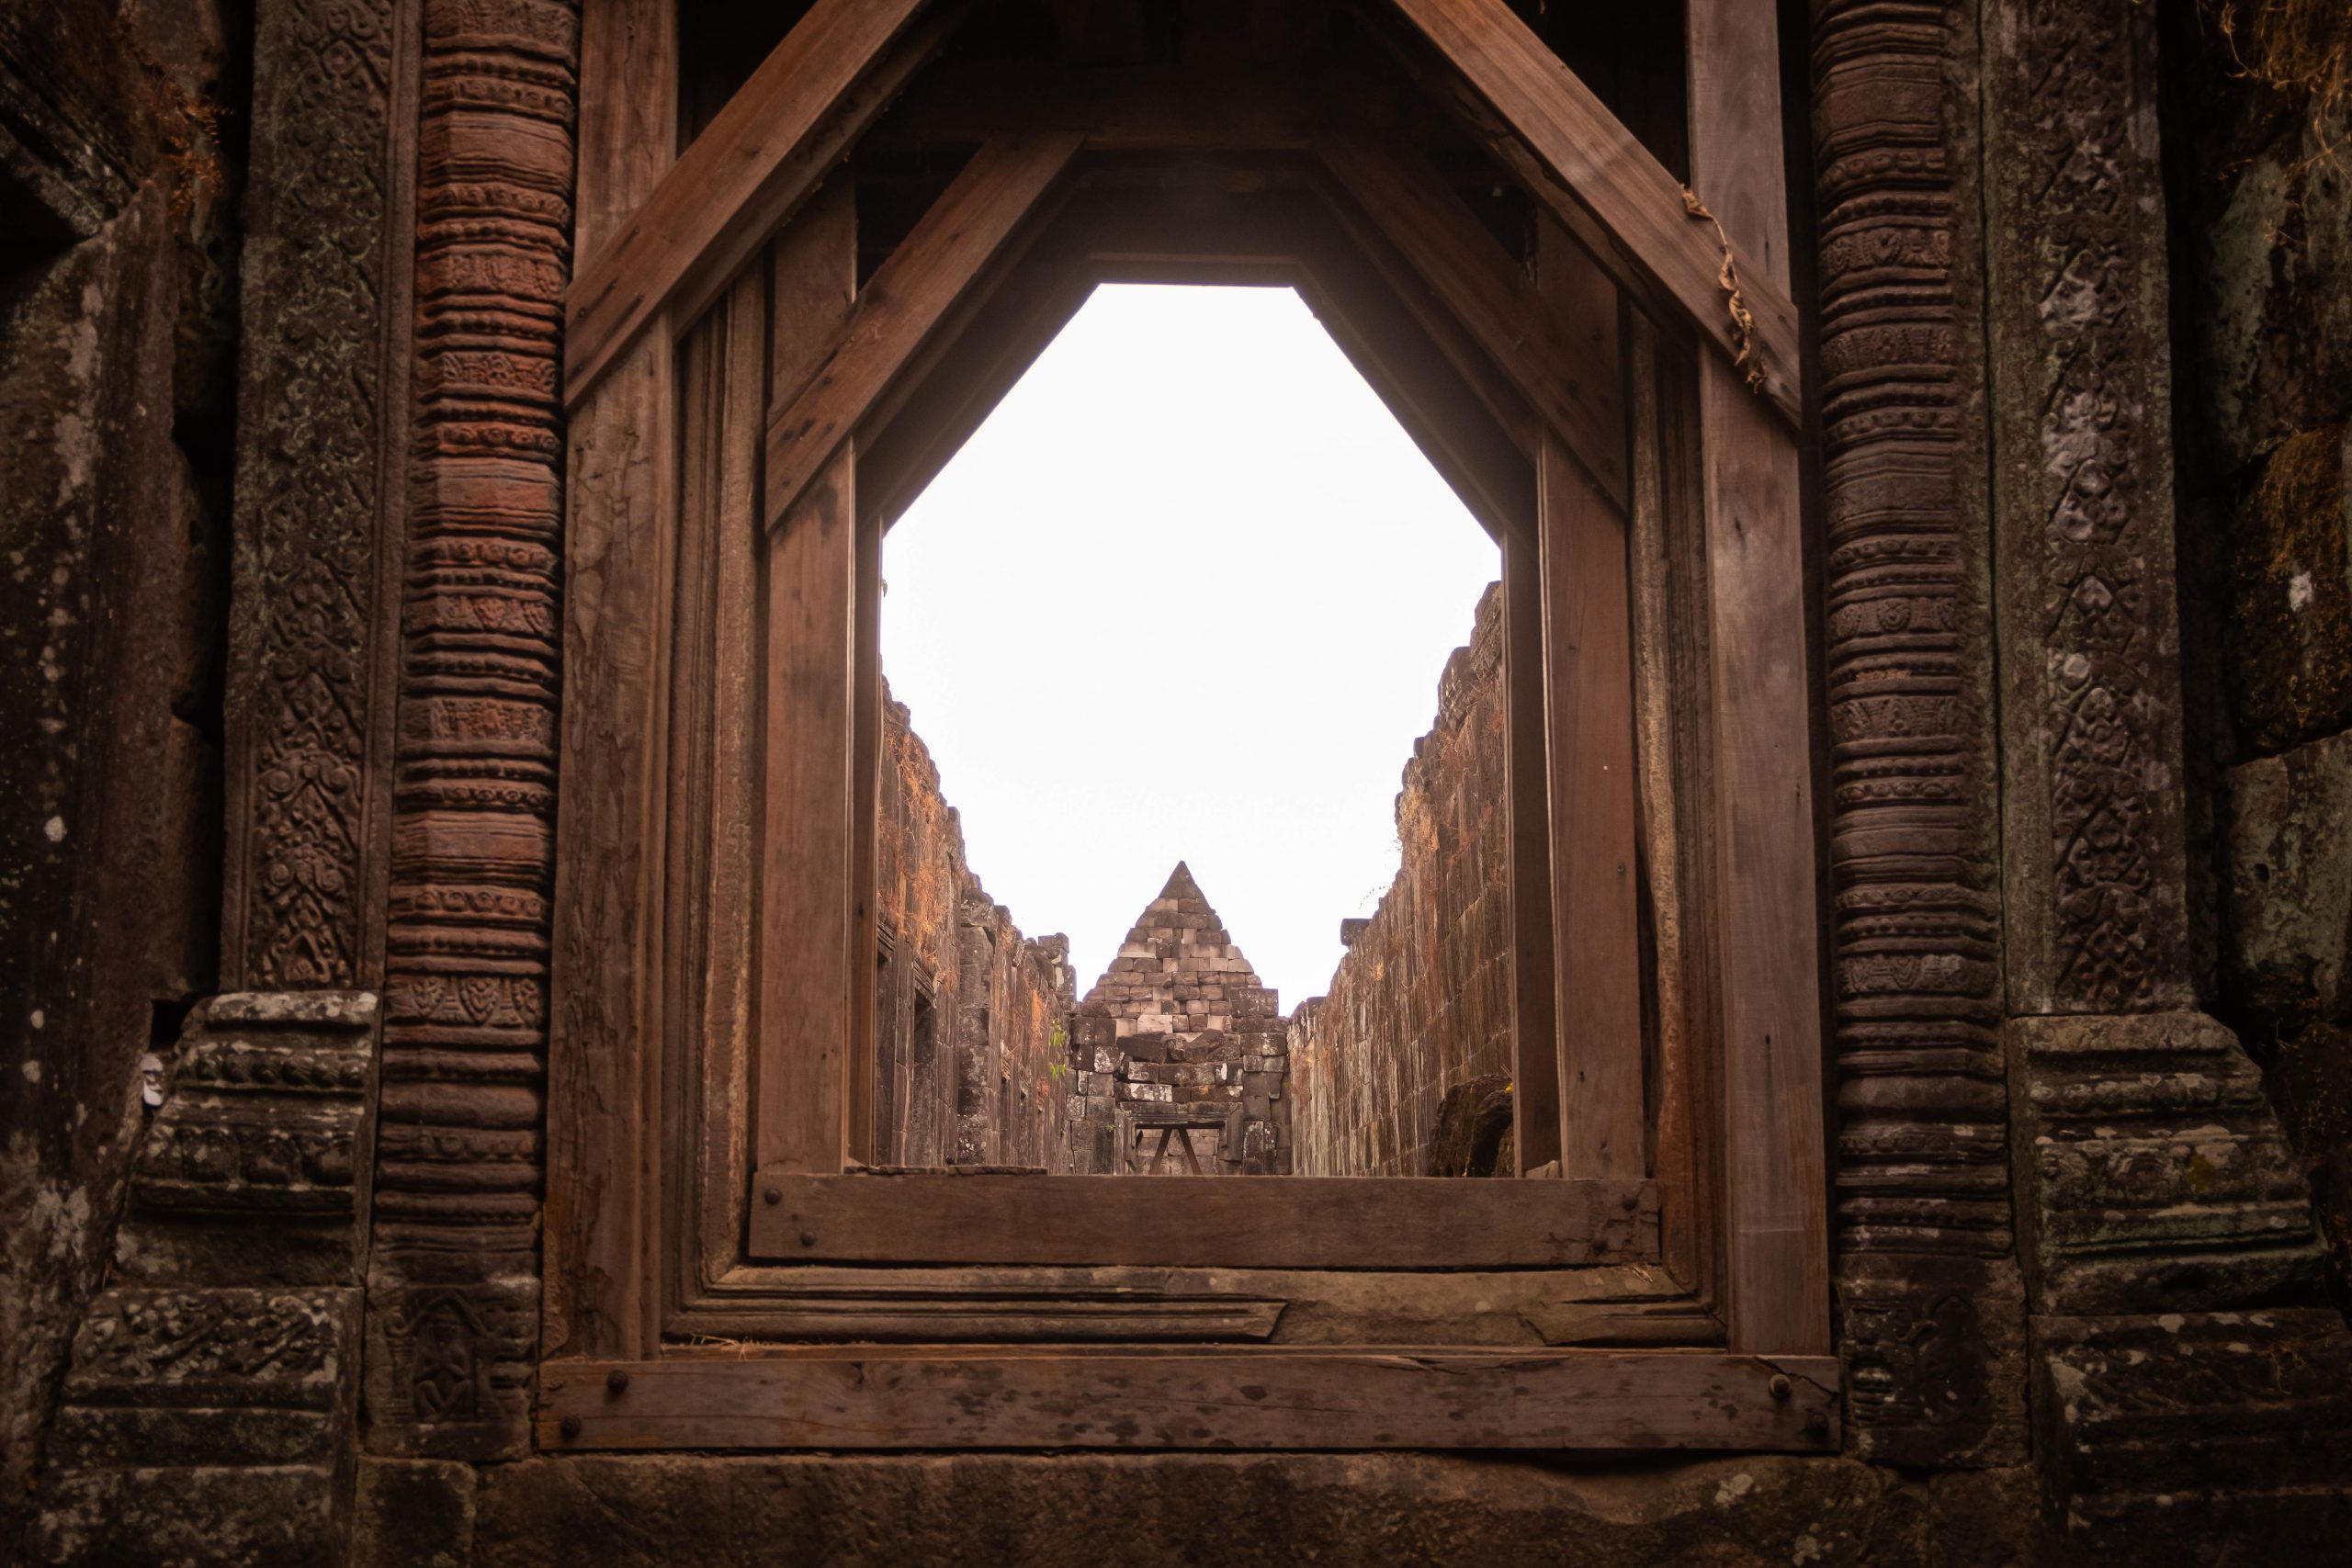
[[[1068,1168],[1070,943],[1028,940],[964,860],[938,766],[887,703],[875,858],[875,1164]]]

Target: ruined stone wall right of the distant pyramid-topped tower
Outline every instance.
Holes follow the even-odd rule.
[[[1432,1175],[1446,1091],[1510,1072],[1503,592],[1437,684],[1397,792],[1397,879],[1291,1013],[1301,1175]],[[1508,1159],[1505,1159],[1508,1164]]]

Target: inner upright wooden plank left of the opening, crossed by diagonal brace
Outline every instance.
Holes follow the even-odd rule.
[[[849,188],[776,240],[776,378],[804,374],[856,289]],[[856,907],[856,458],[842,447],[767,536],[760,846],[760,1166],[840,1171],[849,1133]]]

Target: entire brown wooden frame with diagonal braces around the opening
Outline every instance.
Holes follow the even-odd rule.
[[[1738,193],[1724,230],[1766,259],[1729,252],[1748,343],[1729,240],[1689,244],[1672,179],[1501,0],[1374,9],[1541,176],[1536,282],[1352,132],[1249,148],[1312,167],[1324,237],[1202,256],[1098,214],[1061,233],[1089,136],[1014,127],[856,289],[847,181],[816,176],[946,24],[818,0],[673,165],[670,2],[588,2],[546,1446],[1835,1446],[1778,110],[1708,71],[1773,59],[1771,16],[1691,0],[1693,181]],[[882,508],[1056,310],[1171,270],[1303,287],[1498,527],[1512,733],[1545,738],[1510,764],[1519,1025],[1559,1041],[1519,1084],[1562,1180],[842,1173]],[[861,510],[868,447],[896,465]],[[1672,912],[1646,1025],[1632,844]],[[1098,1222],[1070,1225],[1070,1182]],[[1294,1222],[1223,1218],[1244,1199]],[[1181,1218],[1138,1227],[1145,1204]],[[1496,1342],[1522,1324],[1541,1349]]]

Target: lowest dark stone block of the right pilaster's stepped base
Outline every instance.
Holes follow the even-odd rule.
[[[2034,1448],[2086,1561],[2324,1561],[2352,1528],[2352,1331],[2331,1307],[2034,1319]]]

